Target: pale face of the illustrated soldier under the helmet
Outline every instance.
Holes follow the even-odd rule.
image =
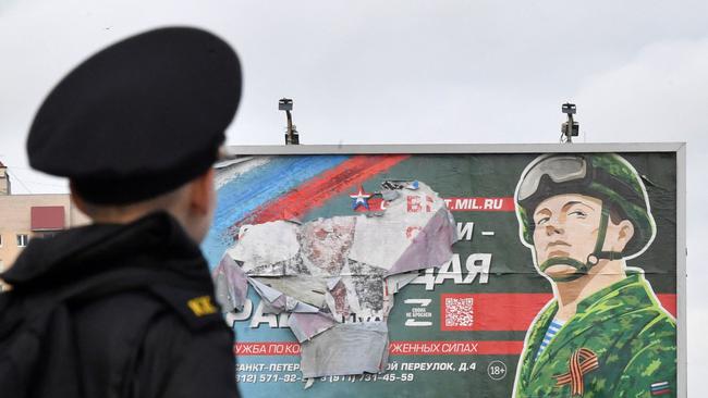
[[[602,201],[575,194],[557,195],[538,204],[534,212],[536,260],[571,258],[581,262],[595,250],[602,214]],[[570,275],[571,265],[558,264],[546,271],[549,276]]]

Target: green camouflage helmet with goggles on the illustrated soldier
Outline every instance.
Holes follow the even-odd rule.
[[[640,254],[654,240],[656,224],[642,178],[624,158],[615,153],[545,154],[522,173],[515,203],[520,235],[534,245],[534,211],[545,199],[562,194],[579,194],[602,200],[634,225],[634,236],[622,257]],[[608,210],[609,210],[608,209]]]

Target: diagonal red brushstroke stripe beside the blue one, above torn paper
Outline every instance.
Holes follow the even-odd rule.
[[[361,154],[328,170],[272,202],[256,209],[239,224],[261,224],[283,219],[300,219],[334,196],[351,192],[373,176],[384,172],[407,154]],[[374,190],[378,187],[364,187]]]

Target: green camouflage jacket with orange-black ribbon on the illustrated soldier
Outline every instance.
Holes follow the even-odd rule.
[[[676,323],[640,273],[581,301],[536,359],[557,311],[551,300],[528,329],[515,397],[676,396]]]

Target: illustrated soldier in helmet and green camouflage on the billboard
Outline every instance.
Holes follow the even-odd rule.
[[[541,156],[515,201],[521,239],[554,297],[527,332],[514,396],[675,396],[675,320],[625,263],[656,235],[634,167],[611,153]]]

